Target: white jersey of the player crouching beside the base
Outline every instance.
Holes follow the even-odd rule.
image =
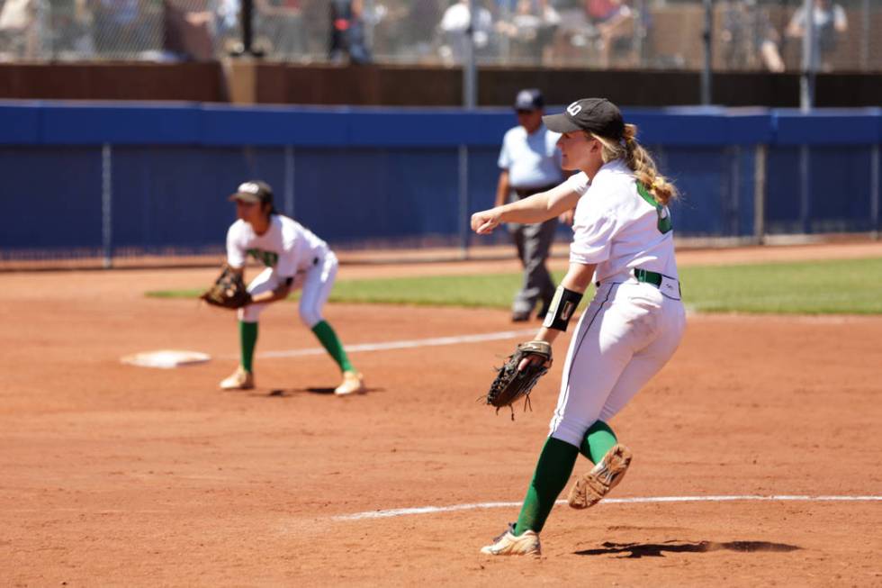
[[[292,277],[313,267],[328,251],[320,240],[299,222],[274,214],[269,229],[257,235],[245,221],[234,222],[227,231],[227,263],[243,267],[248,256],[266,267],[273,267],[281,277]]]

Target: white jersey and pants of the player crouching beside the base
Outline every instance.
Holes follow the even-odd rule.
[[[338,270],[337,256],[325,241],[281,214],[270,218],[269,229],[263,235],[257,235],[250,224],[238,220],[227,231],[227,263],[244,267],[248,256],[266,266],[248,284],[248,292],[275,290],[284,280],[293,278],[293,288],[302,289],[298,309],[301,321],[312,328],[322,320],[321,311],[328,302]],[[257,322],[266,306],[249,304],[238,310],[238,318]]]

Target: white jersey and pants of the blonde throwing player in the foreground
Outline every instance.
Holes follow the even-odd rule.
[[[551,436],[576,447],[595,421],[608,421],[662,369],[680,345],[686,312],[666,207],[640,194],[621,161],[566,182],[581,195],[571,263],[596,264],[597,290],[572,334]],[[665,276],[639,281],[635,269]]]

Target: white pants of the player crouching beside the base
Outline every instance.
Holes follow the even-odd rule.
[[[337,256],[333,251],[328,251],[323,258],[319,258],[316,265],[304,272],[298,272],[294,276],[292,290],[302,288],[300,320],[310,329],[321,321],[321,309],[328,302],[331,288],[334,287],[337,268]],[[251,283],[248,284],[248,292],[251,294],[269,292],[275,290],[275,287],[281,282],[282,279],[275,273],[275,269],[267,267],[251,280]],[[257,322],[260,313],[264,312],[265,308],[266,303],[248,304],[246,307],[238,309],[238,320]]]

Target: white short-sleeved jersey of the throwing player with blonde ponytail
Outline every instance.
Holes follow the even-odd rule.
[[[624,161],[604,164],[592,179],[581,172],[564,184],[581,194],[572,225],[572,263],[597,264],[596,282],[626,278],[637,267],[679,279],[671,213],[637,185]]]

